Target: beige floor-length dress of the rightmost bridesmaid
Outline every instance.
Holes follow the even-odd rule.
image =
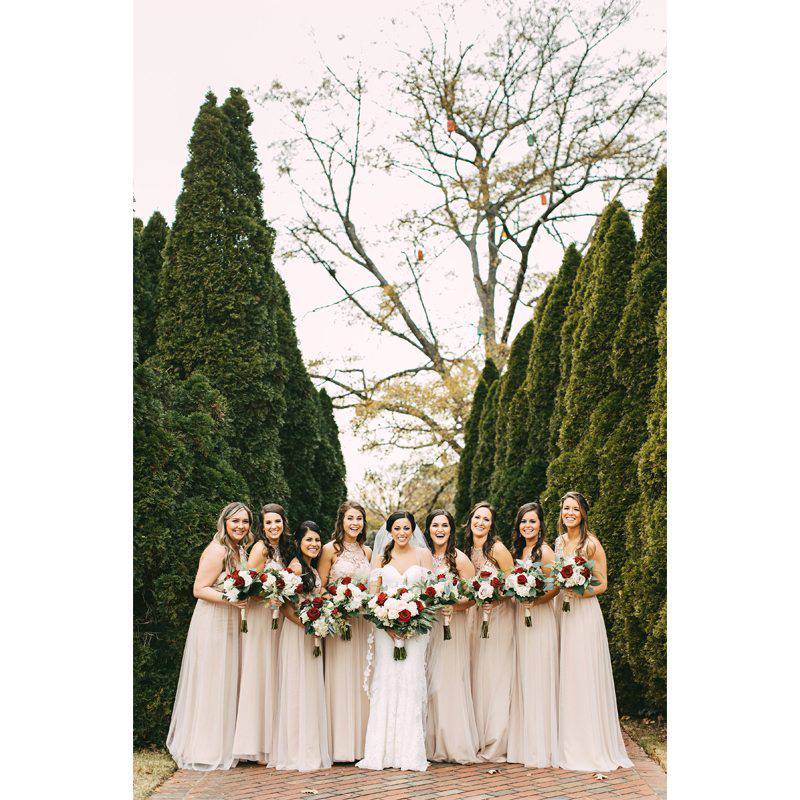
[[[556,557],[564,554],[556,539]],[[561,606],[562,594],[556,597]],[[611,772],[632,767],[622,740],[603,612],[596,597],[559,613],[558,759],[562,769]]]

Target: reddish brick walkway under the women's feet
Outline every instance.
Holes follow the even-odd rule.
[[[153,800],[633,800],[667,796],[664,771],[625,735],[634,768],[616,770],[608,780],[591,773],[526,769],[519,764],[432,764],[427,772],[372,772],[335,765],[319,772],[276,772],[258,765],[216,772],[179,770]],[[315,794],[303,793],[304,789]]]

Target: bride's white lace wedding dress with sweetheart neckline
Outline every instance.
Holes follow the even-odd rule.
[[[391,564],[378,570],[381,588],[410,586],[428,570],[414,564],[401,574]],[[374,575],[373,575],[374,577]],[[394,660],[394,642],[388,633],[374,631],[375,671],[370,688],[369,722],[362,769],[406,769],[424,772],[427,683],[425,651],[428,634],[406,640],[405,661]]]

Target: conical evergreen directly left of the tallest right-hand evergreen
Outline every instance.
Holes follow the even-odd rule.
[[[592,259],[585,309],[576,326],[580,338],[573,345],[564,396],[559,455],[547,470],[548,498],[557,499],[577,489],[591,505],[597,500],[597,459],[617,421],[614,409],[620,402],[611,348],[625,305],[635,248],[630,217],[619,206],[602,249]],[[557,515],[555,505],[553,513]]]

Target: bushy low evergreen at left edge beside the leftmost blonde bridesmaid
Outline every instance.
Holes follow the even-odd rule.
[[[176,384],[144,364],[133,396],[134,743],[163,745],[197,562],[247,485],[230,463],[225,399],[204,376]]]

